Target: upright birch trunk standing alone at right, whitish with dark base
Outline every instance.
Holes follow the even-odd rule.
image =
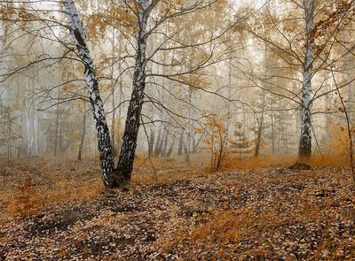
[[[304,81],[302,97],[301,137],[298,148],[298,157],[309,158],[312,156],[312,126],[311,126],[311,91],[312,91],[312,65],[313,65],[313,42],[312,30],[314,27],[314,0],[308,0],[305,7],[306,18],[306,54],[304,59]]]

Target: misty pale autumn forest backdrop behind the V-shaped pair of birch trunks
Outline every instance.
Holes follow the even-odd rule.
[[[353,25],[346,4],[157,1],[144,21],[146,35],[138,36],[134,1],[78,2],[81,43],[91,54],[114,157],[138,69],[145,81],[138,157],[188,161],[220,150],[239,158],[310,157],[347,148]],[[86,61],[65,8],[1,3],[4,159],[100,155]]]

